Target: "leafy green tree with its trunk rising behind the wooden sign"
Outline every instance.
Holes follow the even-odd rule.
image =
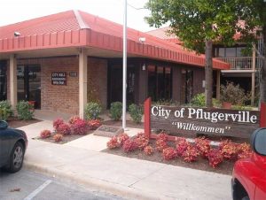
[[[254,0],[255,1],[255,0]],[[257,0],[259,1],[259,0]],[[246,8],[253,0],[149,0],[146,8],[151,15],[145,19],[151,26],[160,27],[169,23],[170,33],[175,34],[184,47],[206,54],[206,105],[212,106],[214,42],[232,45],[237,32],[252,42],[257,21],[250,19],[250,27],[239,23],[254,10]],[[241,39],[243,39],[241,37]]]

